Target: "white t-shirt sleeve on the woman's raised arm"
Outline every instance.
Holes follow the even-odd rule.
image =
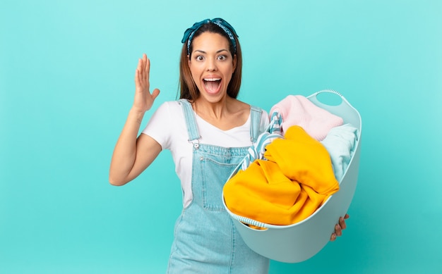
[[[162,149],[170,149],[174,120],[170,113],[170,104],[161,104],[150,117],[142,134],[149,135],[160,144]]]

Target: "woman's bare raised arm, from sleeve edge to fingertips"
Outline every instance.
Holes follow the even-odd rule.
[[[109,170],[109,182],[112,185],[125,185],[148,168],[158,154],[161,146],[148,135],[140,135],[144,113],[153,106],[153,101],[160,94],[159,89],[149,91],[150,61],[145,54],[138,61],[135,73],[135,98],[129,111],[121,135],[114,148]]]

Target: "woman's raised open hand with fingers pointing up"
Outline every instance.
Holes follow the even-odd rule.
[[[143,58],[138,60],[135,72],[135,98],[133,99],[133,108],[142,113],[152,108],[153,101],[160,94],[160,89],[154,89],[150,93],[149,72],[150,61],[148,56],[143,54]]]

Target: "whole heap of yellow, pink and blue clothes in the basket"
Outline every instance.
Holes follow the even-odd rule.
[[[270,113],[268,130],[224,187],[225,204],[245,218],[290,225],[309,217],[338,191],[357,128],[342,125],[342,118],[299,95],[287,96]]]

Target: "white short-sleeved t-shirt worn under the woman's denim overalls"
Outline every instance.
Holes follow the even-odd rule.
[[[230,130],[220,130],[203,120],[195,112],[196,124],[201,139],[200,144],[212,144],[218,147],[250,147],[251,117],[244,125]],[[268,113],[263,111],[259,132],[263,132],[269,123]],[[192,143],[189,142],[186,120],[182,106],[178,101],[163,103],[144,128],[143,134],[149,135],[157,141],[162,149],[169,149],[175,163],[175,172],[181,180],[183,191],[183,206],[189,206],[192,201],[191,170],[192,170]]]

